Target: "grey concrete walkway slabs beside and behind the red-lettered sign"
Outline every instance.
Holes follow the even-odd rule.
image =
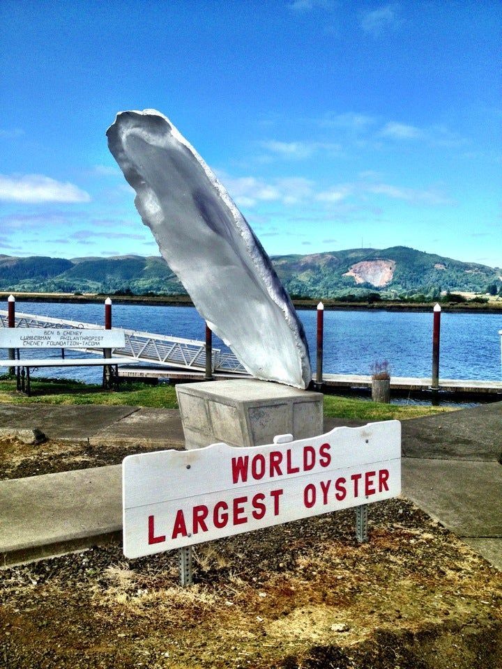
[[[326,431],[357,421],[326,419]],[[177,410],[0,405],[53,440],[183,447]],[[403,495],[502,569],[502,402],[402,422]],[[121,537],[121,466],[0,481],[0,564]]]

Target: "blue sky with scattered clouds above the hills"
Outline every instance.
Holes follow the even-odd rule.
[[[2,0],[0,253],[158,254],[107,149],[166,114],[268,254],[502,266],[499,0]]]

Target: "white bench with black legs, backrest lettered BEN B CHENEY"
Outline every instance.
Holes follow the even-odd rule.
[[[116,386],[119,364],[130,364],[127,357],[112,357],[112,348],[126,346],[123,330],[94,330],[91,328],[50,329],[50,328],[0,328],[0,348],[18,351],[17,360],[0,360],[0,367],[16,369],[17,390],[30,394],[30,369],[38,367],[102,367],[103,387]],[[24,358],[20,351],[38,351],[40,348],[98,348],[105,351],[105,357],[89,358]]]

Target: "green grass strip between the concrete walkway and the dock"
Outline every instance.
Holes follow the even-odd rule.
[[[73,380],[31,379],[31,397],[15,390],[15,380],[0,378],[0,403],[43,404],[128,404],[132,406],[177,408],[174,386],[123,383],[119,392],[103,391],[100,385],[88,385]],[[451,411],[451,407],[432,407],[411,404],[379,404],[340,395],[324,396],[326,417],[367,421],[397,418],[417,418]]]

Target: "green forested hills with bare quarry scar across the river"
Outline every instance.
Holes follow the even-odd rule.
[[[502,271],[428,254],[408,247],[349,249],[328,253],[272,256],[291,295],[337,298],[382,295],[434,296],[441,291],[497,292]],[[0,255],[0,290],[24,292],[184,293],[158,256],[111,258],[17,258]]]

